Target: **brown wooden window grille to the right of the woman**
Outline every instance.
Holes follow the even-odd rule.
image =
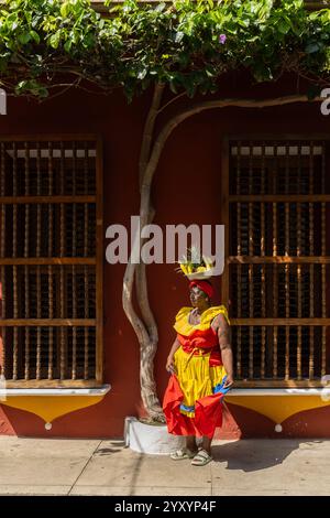
[[[328,163],[326,141],[224,151],[222,285],[240,385],[318,386],[328,371]]]

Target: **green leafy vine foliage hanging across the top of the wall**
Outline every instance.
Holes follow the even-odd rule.
[[[190,0],[119,6],[101,18],[89,0],[6,0],[0,8],[0,78],[18,95],[45,97],[62,74],[131,99],[158,82],[172,91],[217,91],[224,73],[257,82],[293,71],[327,80],[330,9],[302,0]]]

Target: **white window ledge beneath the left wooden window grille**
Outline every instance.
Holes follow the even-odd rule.
[[[0,399],[12,396],[106,396],[111,385],[97,388],[1,388]]]

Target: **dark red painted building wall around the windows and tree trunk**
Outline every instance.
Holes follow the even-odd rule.
[[[238,85],[241,84],[240,91]],[[248,88],[231,78],[221,96],[272,97],[294,91],[296,80]],[[0,117],[0,134],[100,133],[103,140],[105,229],[129,226],[139,214],[138,164],[143,122],[150,96],[128,105],[120,93],[103,97],[72,90],[43,104],[9,98],[8,115]],[[183,102],[183,106],[186,101]],[[172,108],[174,111],[174,108]],[[165,145],[153,186],[154,223],[221,224],[221,141],[226,134],[327,133],[330,117],[316,102],[280,108],[226,108],[205,111],[175,129]],[[105,239],[105,250],[106,250]],[[36,416],[0,406],[0,433],[36,436],[122,436],[125,416],[143,413],[139,386],[139,345],[121,306],[123,265],[105,259],[105,382],[111,391],[100,403],[58,418],[51,431]],[[162,398],[167,382],[164,365],[174,339],[174,316],[189,304],[187,283],[173,265],[147,269],[150,299],[158,323],[160,345],[155,377]],[[220,303],[220,281],[216,303]],[[328,408],[289,418],[283,435],[330,435]],[[274,435],[274,423],[251,410],[229,406],[221,436]],[[277,434],[278,436],[278,434]]]

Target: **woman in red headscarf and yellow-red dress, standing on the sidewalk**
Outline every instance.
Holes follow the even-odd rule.
[[[228,313],[223,305],[211,305],[211,283],[191,281],[189,291],[193,307],[176,315],[163,409],[168,432],[186,436],[186,447],[172,458],[193,458],[193,465],[204,466],[212,460],[211,441],[222,423],[223,396],[233,384],[233,360]]]

